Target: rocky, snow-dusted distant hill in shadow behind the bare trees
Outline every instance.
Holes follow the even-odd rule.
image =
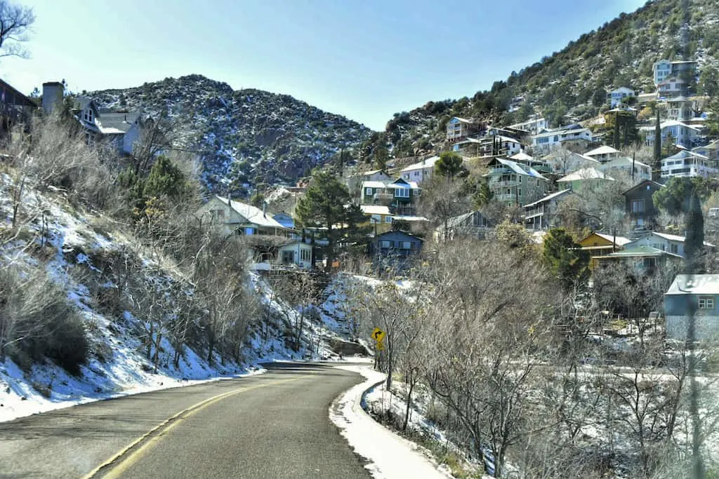
[[[105,107],[166,112],[183,146],[201,156],[206,186],[217,192],[242,194],[259,183],[293,184],[372,133],[291,96],[233,90],[201,75],[88,95]]]

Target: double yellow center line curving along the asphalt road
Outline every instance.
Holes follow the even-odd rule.
[[[142,436],[138,437],[136,440],[129,443],[129,445],[125,446],[117,452],[115,455],[110,457],[108,460],[102,462],[101,465],[97,466],[93,470],[91,470],[89,473],[83,476],[83,479],[91,479],[99,475],[102,469],[106,468],[112,468],[108,471],[108,473],[102,475],[104,478],[117,478],[122,473],[124,473],[127,468],[129,468],[131,465],[134,464],[134,462],[137,462],[142,455],[147,452],[147,450],[152,447],[155,443],[160,441],[160,438],[170,432],[175,426],[180,424],[184,419],[187,419],[188,417],[191,417],[193,414],[196,414],[198,411],[201,411],[202,409],[205,409],[208,406],[211,406],[212,404],[215,404],[216,402],[221,401],[222,399],[226,399],[229,396],[234,396],[235,394],[244,393],[245,391],[252,391],[253,389],[260,389],[264,388],[266,386],[274,386],[275,384],[281,384],[281,383],[289,383],[291,381],[298,381],[303,378],[309,378],[311,377],[311,374],[306,374],[303,376],[299,376],[298,378],[291,378],[291,379],[279,379],[278,381],[271,381],[269,383],[262,383],[257,384],[256,386],[242,386],[238,389],[233,389],[232,391],[218,394],[217,396],[212,396],[211,398],[205,399],[203,401],[198,402],[197,404],[193,404],[192,406],[183,409],[182,411],[178,412],[177,414],[173,414],[173,416],[168,417],[168,419],[165,419],[160,424],[157,424],[157,426],[150,429],[150,431],[146,432],[145,434],[142,434]],[[171,423],[171,424],[170,424]],[[159,432],[158,432],[159,431]],[[155,434],[154,437],[152,437],[150,440],[147,440],[148,437],[152,436],[152,434]],[[144,444],[140,445],[142,442]],[[137,447],[139,445],[139,447]],[[133,448],[136,448],[131,455],[124,457],[127,455],[127,453],[132,450]],[[117,463],[116,465],[114,465]],[[114,465],[114,466],[113,466]]]

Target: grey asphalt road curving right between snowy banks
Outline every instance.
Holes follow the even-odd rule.
[[[357,373],[268,373],[0,423],[0,477],[369,478],[328,409]]]

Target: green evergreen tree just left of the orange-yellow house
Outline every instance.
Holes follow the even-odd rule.
[[[574,243],[564,228],[549,230],[544,239],[542,259],[567,290],[589,278],[589,255]]]

